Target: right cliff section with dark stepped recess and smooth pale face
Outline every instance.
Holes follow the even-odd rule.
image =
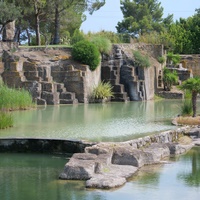
[[[133,51],[144,52],[151,66],[139,67]],[[109,56],[102,61],[102,79],[110,81],[114,88],[113,101],[140,101],[153,99],[155,91],[162,87],[162,66],[157,58],[163,56],[161,45],[119,44],[114,45]]]

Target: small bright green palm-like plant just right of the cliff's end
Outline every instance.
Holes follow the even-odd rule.
[[[163,70],[163,84],[164,90],[170,91],[173,84],[178,82],[178,75],[176,71],[171,72],[166,67]]]

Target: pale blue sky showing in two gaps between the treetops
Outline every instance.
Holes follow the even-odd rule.
[[[159,2],[164,8],[163,17],[174,14],[174,20],[180,17],[188,18],[194,15],[196,8],[200,8],[200,0],[160,0]],[[115,26],[123,20],[120,0],[106,0],[106,4],[100,10],[92,15],[88,13],[86,15],[87,19],[81,26],[81,30],[85,33],[102,30],[117,32]]]

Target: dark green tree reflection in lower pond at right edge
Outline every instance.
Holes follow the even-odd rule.
[[[184,156],[187,163],[191,163],[191,170],[183,171],[178,174],[178,179],[183,180],[188,186],[200,186],[200,148],[194,147]]]

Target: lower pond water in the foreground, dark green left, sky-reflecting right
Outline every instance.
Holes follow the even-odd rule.
[[[147,166],[116,190],[87,190],[84,181],[58,180],[65,157],[0,153],[2,200],[198,200],[200,147],[171,158],[170,164]]]

